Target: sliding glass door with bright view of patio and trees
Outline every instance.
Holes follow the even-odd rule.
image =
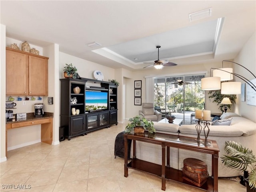
[[[183,75],[155,78],[154,106],[162,112],[171,112],[183,122],[191,123],[191,114],[204,108],[204,91],[201,90],[204,75]]]

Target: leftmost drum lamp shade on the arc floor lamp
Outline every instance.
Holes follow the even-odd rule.
[[[205,77],[201,79],[202,90],[218,90],[220,89],[220,77]]]

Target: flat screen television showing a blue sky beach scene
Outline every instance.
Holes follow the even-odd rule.
[[[85,111],[106,110],[108,108],[108,92],[87,90],[85,92]]]

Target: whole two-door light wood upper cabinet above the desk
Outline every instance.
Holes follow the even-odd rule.
[[[6,47],[6,95],[48,95],[48,57]]]

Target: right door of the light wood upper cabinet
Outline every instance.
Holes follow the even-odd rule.
[[[48,59],[29,55],[29,95],[48,95]]]

